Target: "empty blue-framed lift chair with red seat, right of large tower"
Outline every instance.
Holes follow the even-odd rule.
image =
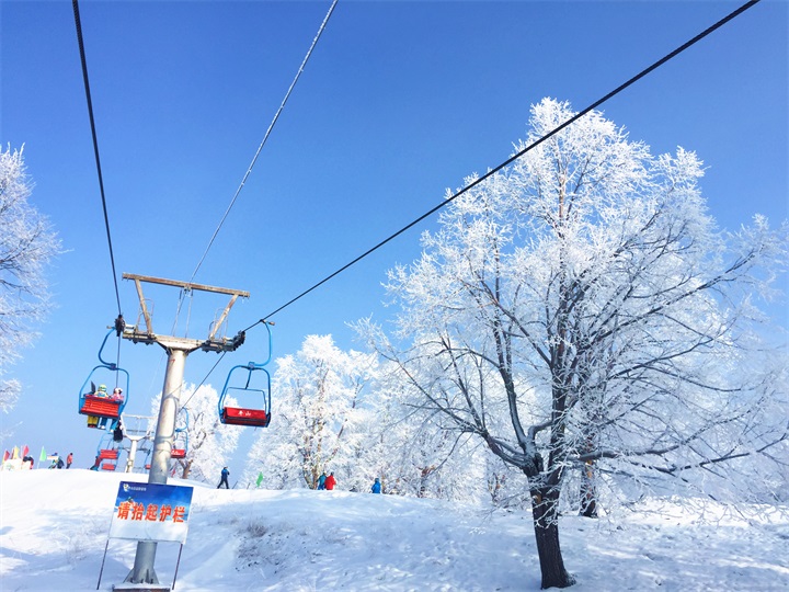
[[[266,428],[271,422],[271,375],[263,366],[271,362],[272,334],[268,323],[264,321],[263,325],[268,331],[268,358],[262,364],[250,362],[230,368],[218,403],[219,421],[222,423]],[[232,395],[242,407],[228,407],[225,403],[228,395]]]

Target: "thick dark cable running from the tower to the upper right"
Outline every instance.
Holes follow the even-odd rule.
[[[742,7],[740,7],[739,9],[736,9],[735,11],[731,12],[730,14],[728,14],[727,16],[724,16],[723,19],[721,19],[720,21],[718,21],[717,23],[714,23],[714,24],[713,24],[712,26],[710,26],[709,29],[706,29],[705,31],[702,31],[701,33],[699,33],[698,35],[696,35],[695,37],[693,37],[693,38],[691,38],[690,41],[688,41],[687,43],[684,43],[683,45],[681,45],[679,47],[677,47],[676,49],[674,49],[671,54],[667,54],[666,56],[662,57],[661,59],[659,59],[658,61],[655,61],[654,64],[652,64],[652,65],[649,66],[648,68],[644,68],[644,69],[641,70],[639,73],[637,73],[637,75],[633,76],[631,79],[629,79],[627,82],[620,84],[619,87],[617,87],[616,89],[614,89],[613,91],[610,91],[608,94],[606,94],[606,95],[603,96],[602,99],[598,99],[597,101],[595,101],[594,103],[592,103],[591,105],[588,105],[588,106],[587,106],[586,109],[584,109],[583,111],[581,111],[581,112],[579,112],[578,114],[575,114],[574,116],[570,117],[568,121],[565,121],[564,123],[562,123],[562,124],[559,125],[558,127],[553,128],[551,132],[549,132],[549,133],[546,134],[545,136],[542,136],[542,137],[540,137],[539,139],[535,140],[534,143],[531,143],[530,145],[528,145],[526,148],[524,148],[524,149],[521,150],[519,152],[516,152],[515,155],[513,155],[512,157],[510,157],[508,159],[506,159],[504,162],[502,162],[501,164],[499,164],[499,166],[495,167],[494,169],[491,169],[490,171],[488,171],[485,174],[483,174],[482,177],[480,177],[479,179],[477,179],[477,180],[473,181],[472,183],[469,183],[468,185],[466,185],[465,187],[462,187],[461,190],[459,190],[457,193],[450,195],[450,196],[447,197],[444,202],[442,202],[442,203],[438,204],[437,206],[433,207],[433,208],[430,209],[428,212],[424,213],[422,216],[420,216],[419,218],[416,218],[415,220],[413,220],[411,224],[409,224],[409,225],[407,225],[407,226],[403,226],[400,230],[398,230],[398,231],[395,232],[393,235],[390,235],[390,236],[387,237],[386,239],[381,240],[378,244],[376,244],[375,247],[371,247],[370,249],[368,249],[367,251],[365,251],[364,253],[362,253],[361,255],[358,255],[356,259],[354,259],[354,260],[351,261],[350,263],[346,263],[345,265],[343,265],[342,267],[340,267],[339,270],[336,270],[336,271],[333,272],[332,274],[327,275],[323,280],[321,280],[321,281],[318,282],[317,284],[312,285],[311,287],[305,289],[301,294],[299,294],[298,296],[291,298],[290,300],[288,300],[287,303],[285,303],[284,305],[282,305],[279,308],[276,308],[274,311],[270,312],[270,314],[266,315],[264,318],[268,319],[268,318],[273,317],[273,316],[276,315],[277,312],[282,311],[283,309],[287,308],[288,306],[290,306],[290,305],[294,304],[295,301],[297,301],[297,300],[299,300],[300,298],[302,298],[304,296],[307,296],[307,294],[309,294],[310,292],[312,292],[312,291],[316,289],[317,287],[325,284],[329,280],[335,277],[336,275],[341,274],[342,272],[344,272],[345,270],[347,270],[347,269],[351,267],[352,265],[358,263],[358,262],[362,261],[364,258],[366,258],[368,254],[373,253],[374,251],[377,251],[378,249],[380,249],[381,247],[384,247],[384,246],[385,246],[386,243],[388,243],[389,241],[393,240],[395,238],[397,238],[397,237],[399,237],[400,235],[402,235],[403,232],[405,232],[405,230],[409,230],[410,228],[412,228],[413,226],[418,225],[419,223],[421,223],[422,220],[424,220],[424,219],[427,218],[428,216],[431,216],[431,215],[435,214],[436,212],[438,212],[441,208],[447,206],[448,204],[450,204],[451,202],[454,202],[456,198],[460,197],[464,193],[466,193],[466,192],[468,192],[469,190],[471,190],[472,187],[479,185],[480,183],[482,183],[483,181],[485,181],[487,179],[489,179],[489,178],[492,177],[493,174],[495,174],[495,173],[498,173],[499,171],[501,171],[503,168],[507,167],[508,164],[512,164],[512,162],[514,162],[515,160],[517,160],[518,158],[521,158],[522,156],[524,156],[524,155],[525,155],[526,152],[528,152],[529,150],[536,148],[537,146],[539,146],[540,144],[542,144],[542,143],[546,141],[547,139],[553,137],[553,136],[557,135],[559,132],[561,132],[562,129],[564,129],[564,128],[568,127],[569,125],[575,123],[578,119],[580,119],[581,117],[583,117],[584,115],[586,115],[590,111],[598,107],[599,105],[602,105],[603,103],[605,103],[606,101],[608,101],[609,99],[611,99],[613,96],[616,96],[616,95],[619,94],[621,91],[624,91],[625,89],[627,89],[627,88],[630,87],[631,84],[636,83],[637,81],[639,81],[640,79],[642,79],[643,77],[645,77],[648,73],[652,72],[652,71],[655,70],[656,68],[660,68],[663,64],[665,64],[665,62],[668,61],[670,59],[678,56],[678,55],[682,54],[685,49],[687,49],[687,48],[689,48],[690,46],[695,45],[696,43],[698,43],[699,41],[701,41],[702,38],[705,38],[707,35],[709,35],[709,34],[712,33],[713,31],[720,29],[721,26],[723,26],[725,23],[728,23],[729,21],[731,21],[731,20],[734,19],[735,16],[739,16],[740,14],[742,14],[743,12],[745,12],[747,9],[752,8],[754,4],[757,4],[759,1],[761,1],[761,0],[751,0],[750,2],[746,2],[745,4],[743,4]],[[255,327],[256,325],[259,325],[259,323],[261,323],[261,322],[263,322],[263,319],[261,319],[261,320],[252,323],[251,326],[249,326],[249,327],[248,327],[247,329],[244,329],[243,331],[249,331],[250,329],[252,329],[253,327]]]

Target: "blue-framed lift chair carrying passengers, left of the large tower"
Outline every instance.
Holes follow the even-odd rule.
[[[126,402],[128,401],[128,372],[118,367],[117,364],[106,362],[102,357],[104,345],[106,345],[107,339],[114,331],[114,328],[110,329],[107,334],[104,335],[104,341],[102,341],[101,348],[99,348],[99,362],[101,362],[101,364],[90,372],[80,388],[79,412],[88,415],[88,428],[106,429],[107,431],[115,430],[121,421],[121,413],[123,413]],[[115,390],[110,394],[104,385],[100,384],[96,386],[99,377],[106,374],[105,371],[115,373],[116,385],[118,373],[123,373],[126,376],[126,389],[122,390],[116,386]]]

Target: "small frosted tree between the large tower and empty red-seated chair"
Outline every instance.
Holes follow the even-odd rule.
[[[219,395],[210,385],[195,390],[195,385],[181,389],[182,408],[175,422],[173,447],[184,446],[186,456],[172,459],[172,468],[182,479],[213,481],[218,479],[222,466],[238,447],[241,431],[219,421],[217,403]],[[151,401],[151,413],[159,417],[161,394]],[[228,405],[235,405],[228,400]]]

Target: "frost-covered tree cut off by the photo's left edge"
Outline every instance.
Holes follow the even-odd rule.
[[[35,333],[31,323],[49,309],[45,265],[60,251],[47,219],[28,202],[33,183],[22,150],[0,150],[0,410],[10,411],[22,389],[3,379]]]

